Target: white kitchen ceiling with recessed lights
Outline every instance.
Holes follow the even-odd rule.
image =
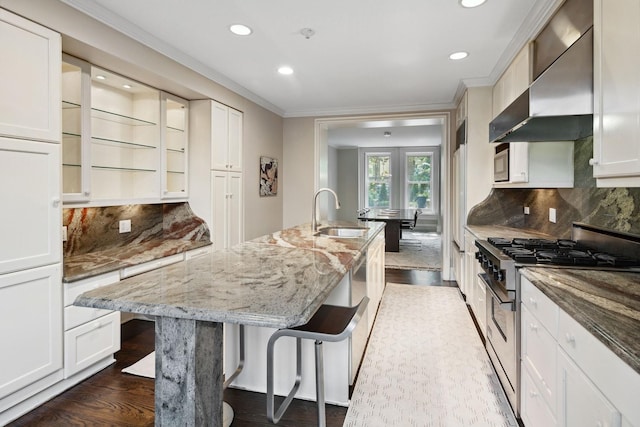
[[[561,2],[62,1],[283,117],[452,108],[461,82],[493,84]],[[460,50],[469,57],[448,59]],[[293,75],[276,72],[284,64]]]

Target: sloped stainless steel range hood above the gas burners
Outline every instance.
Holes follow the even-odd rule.
[[[489,124],[490,142],[574,141],[593,134],[593,28]]]

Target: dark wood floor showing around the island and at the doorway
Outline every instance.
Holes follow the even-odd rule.
[[[410,285],[456,286],[439,272],[386,270],[387,282]],[[154,324],[132,320],[122,326],[122,349],[116,363],[19,418],[9,426],[152,426],[154,381],[120,371],[154,349]],[[273,426],[267,421],[266,399],[261,393],[235,389],[224,400],[234,409],[233,427]],[[342,426],[347,408],[327,405],[327,426]],[[316,425],[316,405],[294,400],[278,426]]]

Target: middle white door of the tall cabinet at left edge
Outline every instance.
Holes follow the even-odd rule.
[[[61,262],[60,144],[0,137],[0,165],[0,274]]]

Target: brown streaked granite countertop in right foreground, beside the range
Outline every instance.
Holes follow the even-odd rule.
[[[551,267],[521,273],[640,373],[640,273]]]

